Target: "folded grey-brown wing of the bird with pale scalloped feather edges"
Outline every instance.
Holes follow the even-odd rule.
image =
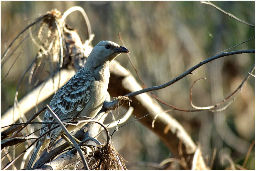
[[[49,106],[62,122],[69,122],[71,119],[67,118],[79,116],[80,111],[83,110],[91,98],[93,81],[95,81],[93,75],[82,68],[54,95]],[[44,115],[45,118],[47,118],[48,122],[54,122],[52,115],[48,111]],[[57,124],[50,124],[46,129],[50,130],[56,126]],[[47,139],[51,139],[48,151],[62,133],[63,130],[58,127],[47,134]]]

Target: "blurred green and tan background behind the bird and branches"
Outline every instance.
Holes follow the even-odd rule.
[[[212,3],[255,24],[254,1]],[[84,8],[91,22],[92,32],[95,34],[92,45],[100,40],[110,40],[121,45],[118,37],[121,32],[132,61],[148,87],[168,82],[214,54],[255,36],[255,28],[228,17],[210,5],[201,4],[200,1],[1,1],[1,55],[12,39],[28,25],[28,21],[55,8],[63,13],[75,5]],[[73,12],[68,16],[67,23],[77,29],[84,41],[86,30],[81,14]],[[255,39],[229,51],[247,49],[255,49]],[[31,41],[23,43],[21,50],[21,57],[1,83],[1,114],[13,105],[17,83],[37,53],[37,48]],[[20,51],[15,52],[1,68],[1,80]],[[138,78],[125,55],[116,60]],[[254,54],[220,58],[198,68],[193,72],[194,75],[188,75],[172,86],[154,93],[166,103],[192,109],[190,87],[196,79],[206,77],[206,80],[196,83],[193,103],[197,106],[213,105],[241,84],[254,63]],[[26,81],[21,84],[18,99],[31,89],[26,85]],[[49,103],[49,100],[50,98],[45,103]],[[31,111],[33,112],[35,110]],[[230,166],[226,160],[221,163],[225,154],[242,165],[246,152],[255,139],[255,79],[249,79],[236,100],[224,111],[169,113],[200,144],[206,160],[211,158],[213,149],[217,149],[213,169]],[[128,169],[154,169],[134,162],[160,163],[173,157],[159,138],[138,121],[124,126],[115,134],[114,146],[128,161]],[[254,156],[253,148],[245,168],[255,169]],[[3,165],[5,166],[4,163]],[[19,169],[18,163],[16,165]]]

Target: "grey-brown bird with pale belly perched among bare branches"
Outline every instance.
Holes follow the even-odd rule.
[[[129,53],[128,49],[111,41],[100,41],[92,49],[84,67],[82,67],[65,85],[53,96],[49,106],[64,122],[69,122],[77,116],[94,118],[100,111],[105,100],[109,82],[109,63],[121,53]],[[40,136],[56,127],[52,115],[46,111],[40,130]],[[69,132],[79,130],[86,123],[78,126],[66,125]],[[42,136],[36,143],[35,149],[28,162],[27,168],[32,168],[39,153],[47,147],[49,152],[53,144],[63,134],[58,127]]]

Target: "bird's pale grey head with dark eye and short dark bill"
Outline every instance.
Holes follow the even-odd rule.
[[[100,41],[87,58],[87,62],[105,64],[115,59],[121,53],[129,53],[128,49],[111,41]]]

